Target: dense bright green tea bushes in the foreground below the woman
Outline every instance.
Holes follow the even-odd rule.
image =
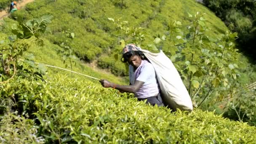
[[[22,104],[26,111],[20,113],[35,120],[39,126],[35,135],[46,143],[246,143],[255,139],[256,128],[246,123],[202,110],[170,112],[137,101],[127,93],[64,75],[1,86],[1,93],[19,97],[15,105]],[[29,133],[22,136],[28,137]]]

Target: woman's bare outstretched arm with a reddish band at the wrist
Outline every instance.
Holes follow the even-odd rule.
[[[115,88],[119,91],[128,93],[136,93],[136,91],[138,91],[139,88],[141,88],[141,86],[144,84],[144,82],[139,80],[135,80],[133,85],[117,85],[109,82],[108,80],[100,80],[99,82],[104,88]]]

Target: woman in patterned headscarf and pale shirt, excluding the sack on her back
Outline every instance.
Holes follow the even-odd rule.
[[[134,44],[123,48],[123,62],[129,63],[130,85],[117,85],[108,80],[100,80],[100,83],[105,88],[134,93],[139,101],[147,100],[147,104],[164,106],[155,69],[139,49]]]

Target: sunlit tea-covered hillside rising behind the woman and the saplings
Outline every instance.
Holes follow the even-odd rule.
[[[117,61],[114,58],[115,53],[119,53],[122,49],[122,45],[120,45],[121,38],[117,25],[108,18],[114,18],[115,21],[117,21],[117,19],[120,19],[120,21],[128,21],[128,26],[130,28],[144,28],[146,36],[144,37],[145,40],[141,43],[141,47],[150,49],[148,45],[152,44],[156,37],[163,37],[163,35],[173,37],[172,41],[176,42],[176,35],[170,35],[169,32],[167,32],[169,24],[172,23],[172,21],[181,21],[182,25],[180,28],[182,31],[179,35],[181,35],[181,33],[186,34],[188,31],[188,27],[186,26],[192,21],[192,19],[189,18],[189,13],[195,15],[196,11],[206,13],[204,15],[206,20],[205,24],[209,27],[208,31],[205,32],[207,37],[215,37],[218,39],[220,37],[219,35],[227,30],[227,27],[225,27],[220,19],[194,0],[108,0],[102,1],[101,3],[97,3],[96,0],[40,0],[35,1],[34,3],[29,3],[23,10],[13,13],[11,18],[22,19],[25,21],[43,14],[51,14],[54,16],[52,23],[49,24],[51,32],[44,35],[44,40],[46,42],[45,48],[33,47],[29,50],[34,53],[36,61],[64,67],[67,62],[62,64],[63,60],[61,59],[63,56],[57,54],[57,52],[61,49],[61,44],[67,41],[65,32],[70,31],[74,33],[75,37],[71,42],[68,42],[67,45],[75,51],[77,56],[75,61],[77,62],[78,67],[74,67],[76,71],[95,75],[91,70],[81,70],[80,68],[84,68],[80,65],[87,65],[94,67],[94,69],[97,69],[96,66],[98,66],[101,68],[98,69],[98,71],[108,69],[108,72],[111,72],[112,74],[127,76],[127,67],[120,61],[120,56]],[[1,30],[6,34],[10,34],[11,26],[15,22],[9,18],[5,18],[5,22],[6,23]],[[133,43],[133,39],[128,39],[125,43]],[[172,44],[175,43],[170,44],[165,41],[165,43],[157,45],[157,48],[162,48],[166,51],[167,49],[169,50],[170,45]],[[204,48],[214,49],[209,45],[204,46]],[[214,53],[219,51],[220,50],[216,49]],[[170,52],[172,55],[175,55],[177,53],[177,47],[171,47]],[[41,53],[45,53],[45,55],[42,55]],[[48,56],[48,53],[51,53],[51,56]],[[212,55],[214,55],[214,53]],[[226,54],[229,55],[229,53]],[[186,59],[182,58],[183,61],[179,61],[181,64],[184,64],[186,60],[191,59],[190,51],[186,52],[185,55]],[[53,61],[52,57],[60,60]],[[237,79],[235,81],[230,81],[231,84],[239,82],[243,84],[240,87],[243,87],[256,80],[256,72],[244,56],[232,55],[230,58],[230,64],[235,63],[239,67],[236,74]],[[232,61],[233,58],[236,60]],[[82,62],[79,60],[82,60]],[[197,59],[196,61],[200,60],[201,59]],[[84,64],[83,62],[88,62],[89,64]],[[173,61],[173,63],[175,62]],[[71,69],[69,65],[67,66],[68,69]],[[184,70],[182,67],[177,67],[177,69],[179,72]],[[229,67],[227,67],[227,69],[229,69]],[[59,70],[55,70],[54,72],[59,72]],[[109,73],[104,76],[99,74],[96,77],[105,78],[113,82],[121,81],[120,79],[115,80],[114,77],[109,78],[110,76],[108,74]],[[226,75],[226,72],[223,72],[222,75]],[[228,79],[232,78],[228,77]],[[202,81],[201,79],[195,80]],[[209,80],[209,84],[211,84],[211,80]],[[121,83],[123,83],[123,81]],[[188,88],[189,80],[184,80],[184,84]],[[197,99],[203,99],[203,96],[208,91],[207,88],[211,87],[209,84],[206,84],[205,87],[203,87],[205,90],[203,90],[203,93],[198,94],[200,96],[198,96]],[[220,84],[223,84],[223,82]],[[224,84],[226,85],[226,82]],[[230,88],[230,86],[227,88]],[[227,91],[226,87],[221,87],[219,90]],[[222,93],[222,95],[220,93],[213,93],[213,95],[215,95],[212,96],[214,99],[211,100],[210,97],[209,101],[222,101],[228,94],[228,91]],[[206,105],[204,108],[213,110],[216,107]]]

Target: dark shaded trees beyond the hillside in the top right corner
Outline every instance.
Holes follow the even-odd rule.
[[[239,48],[255,63],[255,0],[204,0],[205,5],[216,13],[229,29],[238,32]]]

